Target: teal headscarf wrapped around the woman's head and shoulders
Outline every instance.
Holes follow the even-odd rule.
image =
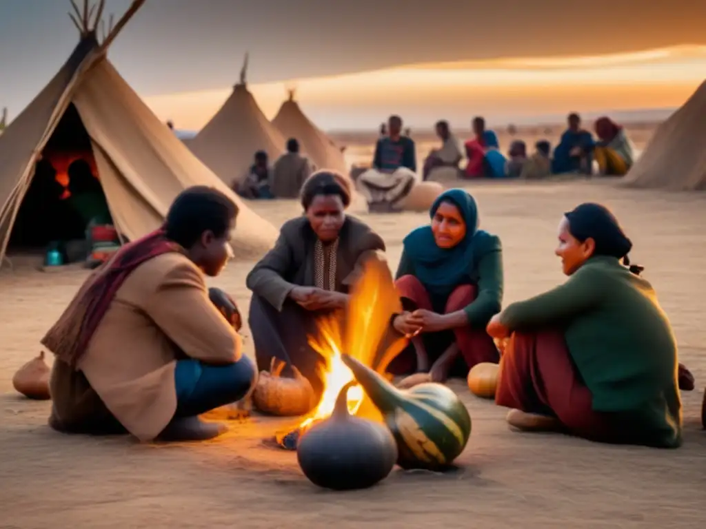
[[[462,189],[441,193],[431,205],[433,219],[441,202],[455,205],[466,223],[466,236],[453,248],[439,248],[431,233],[431,226],[421,226],[405,237],[402,244],[412,262],[414,275],[426,289],[438,296],[448,296],[470,278],[479,246],[486,246],[491,234],[478,229],[478,207],[474,198]]]

